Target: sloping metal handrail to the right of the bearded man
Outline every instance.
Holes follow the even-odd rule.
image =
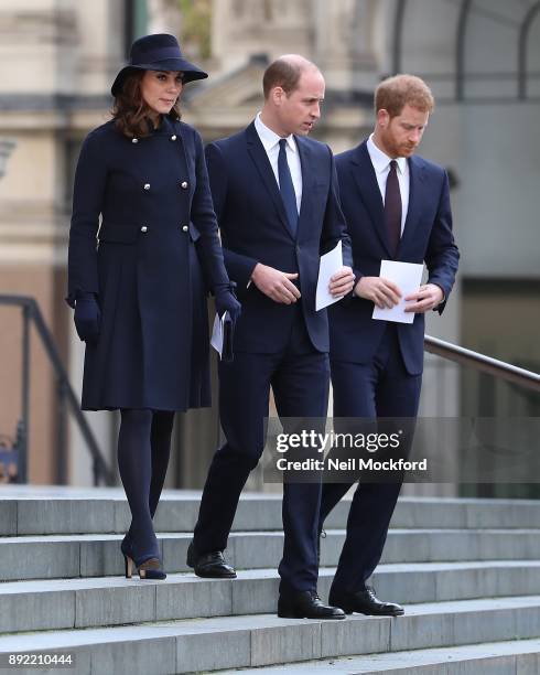
[[[439,338],[432,338],[431,335],[424,336],[424,347],[430,354],[436,354],[438,356],[454,361],[455,363],[471,366],[480,373],[494,375],[500,379],[506,379],[507,382],[526,387],[527,389],[540,392],[540,375],[538,373],[526,371],[525,368],[520,368],[504,361],[498,361],[497,358],[492,358],[478,352],[473,352],[472,350],[466,350],[465,347],[445,342]]]

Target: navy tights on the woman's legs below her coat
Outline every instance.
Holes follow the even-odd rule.
[[[131,540],[137,561],[160,557],[152,518],[165,481],[174,413],[121,410],[118,468],[131,510]]]

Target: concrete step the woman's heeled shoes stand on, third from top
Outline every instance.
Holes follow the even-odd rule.
[[[333,574],[321,571],[323,599]],[[381,565],[374,585],[380,598],[404,604],[410,613],[414,603],[532,596],[540,589],[540,561]],[[278,586],[273,569],[240,571],[235,580],[169,575],[165,581],[99,577],[4,582],[0,633],[274,613]]]

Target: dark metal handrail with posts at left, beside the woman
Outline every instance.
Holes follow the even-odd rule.
[[[3,296],[0,294],[0,304],[21,307],[23,311],[23,355],[22,355],[22,419],[18,426],[18,447],[20,448],[20,473],[21,481],[26,480],[26,454],[28,454],[28,428],[30,413],[30,321],[34,322],[39,336],[45,349],[45,353],[54,368],[58,379],[58,389],[66,397],[66,400],[75,416],[75,421],[83,435],[86,446],[91,454],[94,484],[98,485],[101,480],[106,485],[115,485],[115,475],[107,465],[105,458],[99,450],[96,438],[83,415],[78,398],[69,383],[67,372],[56,349],[53,335],[48,330],[40,307],[34,298],[28,296]]]

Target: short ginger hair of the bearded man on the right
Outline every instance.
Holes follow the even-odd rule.
[[[432,113],[435,99],[430,87],[415,75],[393,75],[387,77],[375,89],[375,114],[388,110],[390,117],[401,115],[409,105],[419,110]]]

